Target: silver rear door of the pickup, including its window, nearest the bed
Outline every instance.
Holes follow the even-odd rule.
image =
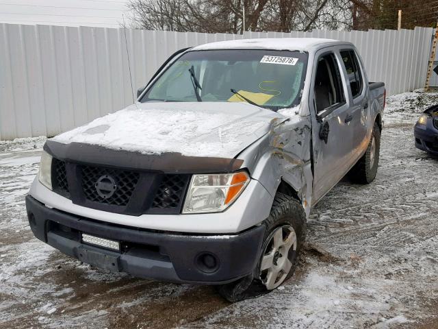
[[[365,71],[354,49],[341,49],[342,70],[348,79],[348,93],[352,99],[350,108],[350,126],[352,129],[352,158],[356,161],[368,147],[369,100],[365,85]]]

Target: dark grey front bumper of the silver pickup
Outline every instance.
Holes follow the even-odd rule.
[[[47,208],[30,195],[26,208],[34,235],[64,254],[110,271],[170,282],[224,284],[252,273],[265,233],[264,226],[218,236],[142,230]],[[82,232],[120,241],[121,250],[83,243]]]

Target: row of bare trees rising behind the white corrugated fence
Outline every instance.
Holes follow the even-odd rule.
[[[129,0],[128,7],[133,27],[233,34],[394,29],[398,9],[407,28],[433,26],[438,16],[437,0]]]

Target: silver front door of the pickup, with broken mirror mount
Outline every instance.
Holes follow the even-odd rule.
[[[352,130],[342,58],[337,51],[316,53],[309,106],[312,112],[313,204],[350,169]],[[324,127],[328,134],[324,134]],[[327,130],[326,130],[327,132]]]

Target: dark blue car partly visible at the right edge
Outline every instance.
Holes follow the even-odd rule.
[[[438,105],[423,112],[414,127],[415,147],[438,155]]]

